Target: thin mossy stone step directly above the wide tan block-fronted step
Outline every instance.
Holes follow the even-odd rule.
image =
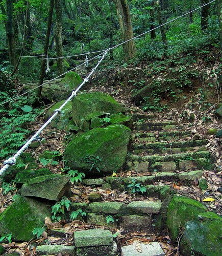
[[[154,142],[154,143],[133,143],[134,150],[154,150],[161,152],[166,148],[187,148],[206,145],[208,140],[187,140],[187,141],[175,141],[175,142]]]

